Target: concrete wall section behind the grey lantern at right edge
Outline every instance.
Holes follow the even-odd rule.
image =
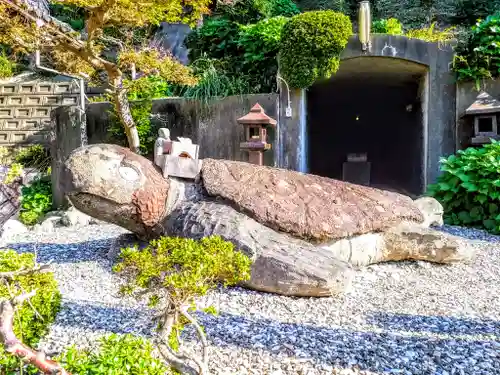
[[[474,82],[459,82],[457,84],[455,137],[457,150],[471,146],[471,138],[474,136],[474,116],[465,116],[465,110],[474,103],[481,90],[500,100],[500,81],[487,80],[481,84],[479,91]]]

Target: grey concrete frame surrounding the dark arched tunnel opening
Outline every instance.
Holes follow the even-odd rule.
[[[439,158],[455,151],[455,95],[456,83],[449,63],[453,58],[450,46],[438,43],[427,43],[418,39],[408,39],[404,36],[374,34],[372,35],[372,49],[363,52],[356,35],[351,37],[341,59],[347,64],[349,59],[363,56],[378,56],[404,59],[425,65],[428,68],[428,77],[424,80],[428,93],[427,108],[427,139],[425,183],[431,183],[439,175]],[[307,171],[307,116],[304,90],[291,90],[291,107],[293,115],[285,117],[287,106],[287,89],[280,84],[280,138],[282,151],[279,165],[300,171]],[[424,121],[425,123],[425,121]]]

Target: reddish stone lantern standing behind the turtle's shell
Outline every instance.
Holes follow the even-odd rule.
[[[245,142],[240,143],[240,148],[248,151],[250,163],[263,165],[264,151],[271,149],[271,144],[267,143],[267,127],[276,126],[276,120],[266,115],[257,103],[248,114],[237,121],[245,128]]]

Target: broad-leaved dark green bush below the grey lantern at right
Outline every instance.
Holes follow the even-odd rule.
[[[443,205],[445,221],[500,233],[500,143],[458,151],[441,159],[441,170],[428,194]]]

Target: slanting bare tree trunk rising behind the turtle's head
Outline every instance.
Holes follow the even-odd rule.
[[[123,75],[119,71],[108,73],[110,81],[113,84],[113,101],[115,104],[115,110],[123,127],[125,128],[128,146],[132,152],[139,153],[139,133],[137,132],[137,127],[135,126],[135,121],[132,117],[132,112],[130,111],[127,90],[123,87]]]

